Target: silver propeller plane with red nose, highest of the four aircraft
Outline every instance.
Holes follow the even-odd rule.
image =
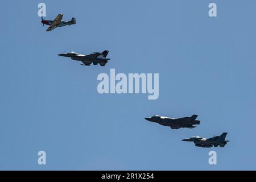
[[[67,25],[76,24],[76,18],[72,18],[70,21],[63,21],[62,18],[63,18],[63,14],[57,15],[55,20],[45,20],[43,19],[43,16],[42,16],[41,23],[43,24],[43,26],[44,24],[49,25],[48,29],[46,30],[47,32],[52,31],[57,27],[64,27]]]

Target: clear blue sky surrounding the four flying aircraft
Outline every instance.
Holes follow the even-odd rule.
[[[46,32],[63,13],[75,26]],[[216,18],[208,16],[217,3]],[[0,28],[0,169],[256,169],[255,1],[5,1]],[[105,67],[59,53],[109,49]],[[159,73],[159,98],[98,94],[97,76]],[[195,129],[147,122],[199,114]],[[224,148],[181,139],[228,132]],[[46,166],[38,151],[46,151]],[[217,152],[210,166],[208,152]]]

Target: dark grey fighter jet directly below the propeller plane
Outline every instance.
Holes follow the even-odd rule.
[[[110,59],[106,58],[106,56],[108,56],[109,51],[105,50],[103,52],[93,52],[90,55],[80,55],[79,53],[76,52],[68,52],[68,53],[64,53],[64,54],[60,54],[59,56],[64,56],[64,57],[71,57],[72,60],[76,60],[76,61],[82,61],[81,64],[82,66],[89,66],[90,64],[100,64],[102,67],[105,66],[106,63],[108,63],[108,61]]]

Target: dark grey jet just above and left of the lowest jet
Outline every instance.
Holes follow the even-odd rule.
[[[180,129],[181,127],[187,127],[189,129],[193,129],[196,126],[200,125],[200,121],[196,120],[198,115],[192,115],[192,117],[184,117],[184,118],[168,118],[160,115],[154,115],[151,118],[145,118],[147,121],[159,123],[163,126],[170,126],[171,129]]]

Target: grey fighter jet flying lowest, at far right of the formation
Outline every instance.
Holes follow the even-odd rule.
[[[185,142],[194,142],[196,147],[224,147],[229,140],[225,140],[228,133],[222,133],[220,136],[213,136],[213,138],[191,137],[183,139]]]

